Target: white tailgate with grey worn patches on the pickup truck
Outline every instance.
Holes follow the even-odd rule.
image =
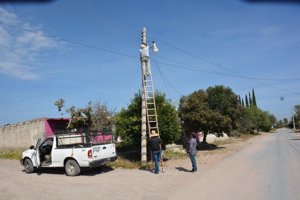
[[[92,161],[116,156],[115,144],[93,145],[91,150]]]

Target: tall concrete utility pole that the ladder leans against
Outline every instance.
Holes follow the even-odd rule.
[[[146,28],[143,28],[143,43],[146,43]],[[147,163],[147,146],[146,146],[146,99],[145,91],[143,87],[142,79],[142,151],[141,151],[141,162],[142,164]]]

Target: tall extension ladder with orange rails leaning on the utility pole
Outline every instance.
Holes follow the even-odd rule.
[[[152,130],[156,130],[156,132],[158,134],[158,138],[159,138],[158,121],[157,121],[157,113],[156,113],[156,106],[155,106],[154,90],[153,90],[153,84],[152,84],[152,76],[151,76],[151,74],[149,76],[144,76],[142,73],[142,79],[143,79],[143,88],[144,88],[144,95],[145,95],[145,101],[146,101],[146,117],[147,117],[149,138],[151,138],[150,133]],[[161,145],[160,145],[160,147],[161,147]],[[151,151],[151,160],[152,160],[152,170],[154,173],[155,170],[154,170],[152,151]],[[163,155],[162,154],[161,154],[161,166],[162,167],[160,167],[160,169],[162,169],[164,172],[164,163],[163,163]]]

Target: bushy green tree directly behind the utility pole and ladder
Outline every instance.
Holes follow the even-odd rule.
[[[147,100],[147,102],[150,101]],[[182,131],[177,120],[176,105],[173,105],[172,101],[166,98],[165,93],[155,91],[155,105],[159,135],[162,141],[162,148],[165,149],[166,145],[179,139]],[[116,114],[116,132],[121,136],[122,142],[132,146],[132,148],[141,148],[141,107],[142,92],[139,90],[134,93],[134,97],[127,104],[127,109],[123,107]]]

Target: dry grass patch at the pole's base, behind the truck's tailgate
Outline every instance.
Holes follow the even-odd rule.
[[[122,167],[122,169],[139,169],[139,168],[149,169],[152,168],[152,163],[148,162],[146,165],[142,165],[141,161],[128,160],[126,158],[122,158],[118,156],[118,159],[116,161],[112,163],[108,163],[106,167],[111,169],[117,169],[120,167]]]

